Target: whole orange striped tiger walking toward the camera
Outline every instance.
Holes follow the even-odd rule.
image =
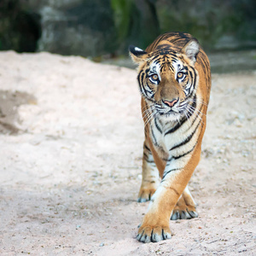
[[[137,201],[150,201],[137,240],[156,242],[172,237],[170,218],[198,216],[188,183],[200,160],[211,70],[207,55],[188,33],[165,33],[145,50],[133,45],[129,50],[138,65],[145,125]]]

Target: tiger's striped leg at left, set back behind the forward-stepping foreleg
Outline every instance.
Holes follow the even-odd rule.
[[[143,146],[143,180],[138,195],[138,202],[149,201],[154,195],[159,184],[159,171],[154,163],[154,158],[146,142]]]

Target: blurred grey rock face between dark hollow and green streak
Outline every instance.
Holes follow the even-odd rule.
[[[38,10],[42,37],[38,50],[62,55],[113,53],[116,33],[109,1],[58,1]]]

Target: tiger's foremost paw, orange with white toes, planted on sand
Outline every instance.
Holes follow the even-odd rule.
[[[172,233],[167,226],[141,226],[137,233],[137,241],[157,242],[170,239]]]

